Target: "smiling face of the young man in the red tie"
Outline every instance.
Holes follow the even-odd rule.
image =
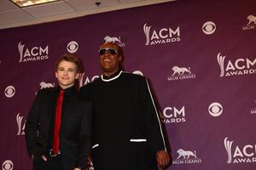
[[[75,79],[79,77],[79,74],[73,62],[62,60],[55,71],[55,77],[61,88],[66,89],[74,85]]]

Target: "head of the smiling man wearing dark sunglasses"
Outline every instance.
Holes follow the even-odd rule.
[[[100,65],[105,76],[111,76],[119,70],[121,59],[119,48],[114,43],[104,43],[100,48]]]

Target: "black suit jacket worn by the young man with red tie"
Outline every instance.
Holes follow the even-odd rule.
[[[25,137],[29,156],[40,158],[49,148],[49,126],[55,119],[56,96],[59,88],[44,88],[37,97],[26,119]],[[64,109],[63,109],[64,108]],[[85,169],[90,150],[92,105],[79,97],[73,88],[64,94],[61,113],[61,159],[62,168]]]

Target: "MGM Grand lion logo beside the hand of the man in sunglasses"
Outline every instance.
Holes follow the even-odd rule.
[[[190,150],[177,150],[177,158],[172,161],[173,164],[184,164],[184,163],[201,163],[201,158],[196,156],[195,151]]]

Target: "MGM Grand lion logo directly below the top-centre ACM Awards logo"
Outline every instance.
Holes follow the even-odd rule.
[[[167,78],[168,81],[195,78],[195,74],[191,73],[190,67],[178,67],[175,65],[172,67],[172,71],[172,76]]]

